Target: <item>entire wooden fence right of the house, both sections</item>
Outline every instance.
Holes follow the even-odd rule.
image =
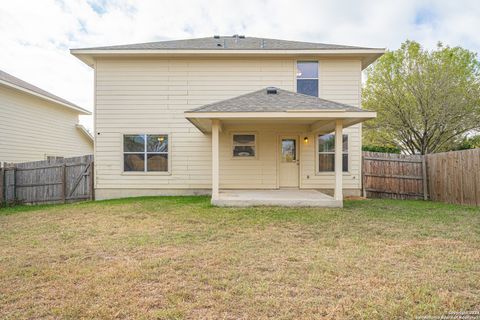
[[[480,206],[480,149],[421,155],[363,152],[363,193]]]

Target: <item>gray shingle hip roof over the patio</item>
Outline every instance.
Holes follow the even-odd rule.
[[[276,88],[268,94],[267,88],[235,98],[207,104],[188,112],[287,112],[305,110],[331,110],[363,112],[360,108]]]

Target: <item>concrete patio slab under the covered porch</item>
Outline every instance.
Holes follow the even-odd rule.
[[[219,207],[329,207],[341,208],[343,201],[317,190],[278,189],[278,190],[220,190],[212,204]]]

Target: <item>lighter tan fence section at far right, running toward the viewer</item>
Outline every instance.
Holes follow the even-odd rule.
[[[430,198],[480,206],[480,149],[426,156]]]

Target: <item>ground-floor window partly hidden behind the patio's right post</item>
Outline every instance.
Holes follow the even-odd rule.
[[[343,171],[348,171],[348,135],[343,135]],[[318,136],[318,171],[335,171],[335,135]]]

